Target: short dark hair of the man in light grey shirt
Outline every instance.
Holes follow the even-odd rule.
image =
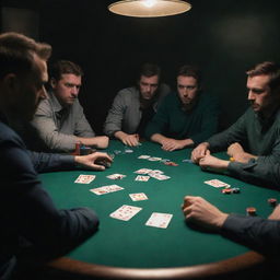
[[[50,68],[50,78],[59,81],[62,74],[83,75],[80,66],[69,60],[58,60]]]

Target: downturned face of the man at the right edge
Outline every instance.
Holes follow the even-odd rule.
[[[256,113],[269,113],[278,104],[278,94],[271,94],[270,77],[266,74],[248,77],[248,101]]]

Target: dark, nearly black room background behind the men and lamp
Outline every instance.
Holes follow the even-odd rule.
[[[155,19],[112,14],[112,2],[0,1],[2,32],[23,32],[51,44],[51,61],[81,65],[80,101],[97,133],[114,96],[136,82],[143,62],[159,63],[173,89],[179,66],[199,66],[203,89],[220,97],[228,126],[247,107],[246,70],[280,60],[278,0],[192,0],[189,12]]]

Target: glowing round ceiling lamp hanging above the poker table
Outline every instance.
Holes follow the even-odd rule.
[[[182,0],[124,0],[108,5],[110,12],[137,18],[167,16],[187,12],[191,4]]]

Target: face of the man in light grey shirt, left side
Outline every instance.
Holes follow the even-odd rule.
[[[60,105],[67,107],[73,105],[78,98],[82,78],[71,73],[62,74],[59,81],[51,79],[50,84]]]

